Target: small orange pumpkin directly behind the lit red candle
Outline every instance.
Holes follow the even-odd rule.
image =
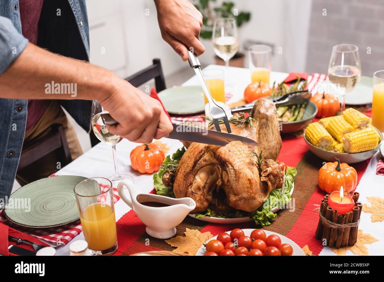
[[[319,187],[327,193],[340,191],[341,186],[343,186],[344,192],[349,193],[356,188],[357,183],[358,173],[356,169],[345,162],[340,164],[339,159],[336,162],[327,162],[319,170]]]

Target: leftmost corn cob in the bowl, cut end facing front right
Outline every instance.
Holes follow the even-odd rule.
[[[305,129],[304,134],[305,138],[314,146],[329,151],[333,149],[333,138],[331,134],[318,122],[310,123]]]

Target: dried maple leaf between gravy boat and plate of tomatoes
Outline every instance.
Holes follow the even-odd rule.
[[[213,235],[208,231],[201,233],[197,229],[185,229],[185,237],[176,236],[166,240],[172,247],[177,247],[172,252],[186,252],[190,256],[194,256],[200,249],[201,245],[207,242]]]

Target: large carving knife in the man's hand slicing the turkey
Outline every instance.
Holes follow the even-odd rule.
[[[104,113],[101,115],[103,123],[105,125],[117,125],[118,122],[114,120],[109,113]],[[242,141],[244,144],[253,147],[259,146],[259,143],[256,141],[243,137],[240,135],[235,135],[231,133],[225,133],[215,130],[208,130],[205,128],[198,128],[194,126],[188,126],[184,124],[175,124],[172,123],[173,131],[169,133],[166,138],[185,140],[196,143],[204,143],[218,146],[225,146],[232,141]]]

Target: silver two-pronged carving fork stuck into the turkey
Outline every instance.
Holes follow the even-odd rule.
[[[189,50],[188,50],[188,62],[189,62],[189,65],[192,67],[192,69],[194,69],[197,79],[199,79],[200,85],[203,88],[205,96],[208,99],[209,113],[212,116],[212,120],[215,125],[216,131],[221,132],[218,121],[223,120],[228,133],[231,133],[231,127],[229,126],[227,114],[225,113],[224,109],[218,106],[215,103],[214,99],[212,98],[211,92],[209,91],[207,83],[205,82],[205,79],[203,77],[203,73],[201,72],[201,69],[200,69],[201,65],[200,65],[199,59],[197,59],[197,56],[195,53],[192,53]]]

